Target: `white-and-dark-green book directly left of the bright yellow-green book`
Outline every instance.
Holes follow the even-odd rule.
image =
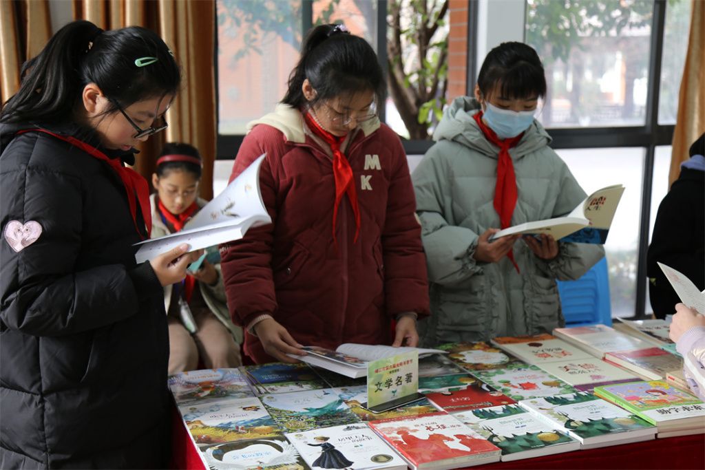
[[[519,404],[580,440],[583,449],[656,438],[651,423],[589,392],[532,398]]]

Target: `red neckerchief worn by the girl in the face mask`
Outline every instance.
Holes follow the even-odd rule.
[[[510,139],[500,139],[494,130],[491,130],[482,120],[482,110],[472,116],[479,125],[482,134],[489,142],[499,147],[497,158],[497,183],[494,188],[494,210],[499,214],[500,228],[507,228],[512,223],[512,214],[517,205],[517,177],[514,174],[514,164],[509,156],[509,149],[515,147],[522,140],[524,132]],[[508,258],[519,272],[519,266],[514,261],[514,252],[509,250]]]

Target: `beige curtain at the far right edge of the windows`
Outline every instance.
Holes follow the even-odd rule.
[[[705,1],[692,0],[690,36],[678,97],[678,116],[673,130],[668,186],[678,179],[680,163],[688,149],[705,132]]]

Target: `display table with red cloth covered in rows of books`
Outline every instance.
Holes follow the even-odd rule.
[[[629,340],[605,328],[596,332],[602,347],[606,335]],[[705,468],[703,402],[559,333],[569,341],[441,345],[419,360],[422,398],[380,413],[364,407],[367,377],[304,363],[177,374],[171,468]],[[575,333],[585,341],[591,331]],[[369,386],[372,394],[395,383]]]

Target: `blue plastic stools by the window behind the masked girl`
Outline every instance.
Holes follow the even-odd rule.
[[[606,258],[598,261],[580,279],[557,282],[565,326],[612,324]]]

